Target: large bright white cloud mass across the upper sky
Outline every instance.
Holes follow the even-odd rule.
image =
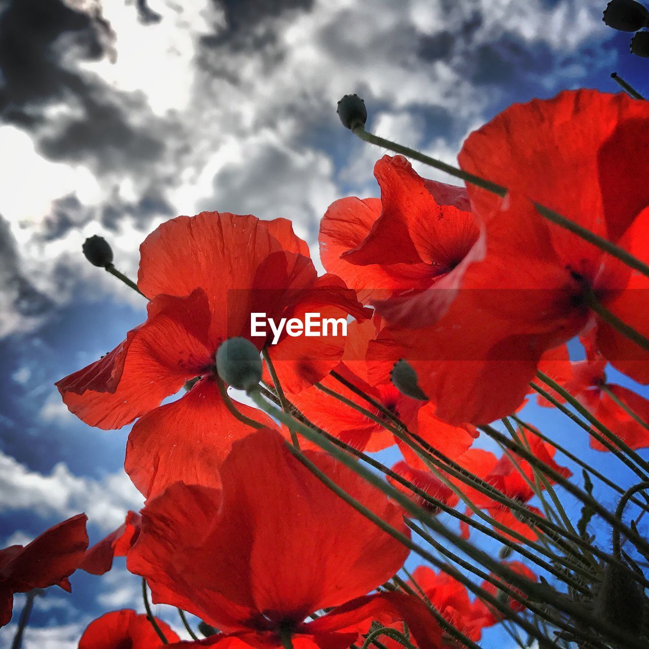
[[[0,196],[0,214],[19,250],[16,264],[36,291],[59,305],[106,294],[137,304],[136,293],[88,265],[80,246],[86,236],[107,236],[117,267],[134,276],[138,245],[168,216],[165,206],[172,215],[209,206],[286,216],[313,243],[318,219],[341,196],[343,176],[347,184],[357,184],[356,193],[367,192],[373,163],[382,154],[351,135],[353,160],[334,158],[329,150],[328,130],[344,137],[334,110],[347,92],[363,93],[370,110],[376,106],[371,123],[388,138],[452,160],[461,144],[458,133],[479,125],[489,101],[506,92],[498,84],[485,88],[471,80],[467,72],[476,65],[472,56],[478,47],[513,34],[530,46],[545,43],[562,61],[587,39],[606,34],[599,0],[570,0],[554,8],[541,0],[320,0],[312,10],[267,16],[250,27],[261,43],[251,49],[231,45],[223,9],[209,0],[160,0],[154,6],[160,20],[147,24],[136,19],[133,3],[102,5],[116,33],[116,60],[79,63],[71,58],[74,48],[59,43],[59,49],[66,69],[93,84],[93,99],[115,108],[127,133],[94,152],[90,136],[68,141],[53,162],[34,146],[34,134],[15,125],[0,128],[6,152],[0,177],[9,188]],[[452,34],[448,54],[422,60],[421,38],[445,32]],[[221,43],[205,45],[206,34]],[[565,69],[551,64],[535,78],[541,86],[557,75],[573,83],[584,69],[579,63]],[[431,124],[418,116],[417,107],[447,112],[456,134],[422,136]],[[49,104],[36,138],[56,138],[66,120],[83,117],[84,110],[79,97]],[[319,129],[325,130],[323,140],[315,138]],[[144,144],[132,149],[136,136],[149,138],[159,151],[147,156],[140,150]],[[337,169],[349,173],[339,176]],[[156,200],[143,214],[140,201],[147,196]],[[57,216],[53,205],[63,197],[69,204],[57,208],[63,213]],[[108,217],[106,208],[112,210]],[[21,312],[18,299],[11,286],[0,297],[0,336],[29,330],[46,317],[47,310]]]

